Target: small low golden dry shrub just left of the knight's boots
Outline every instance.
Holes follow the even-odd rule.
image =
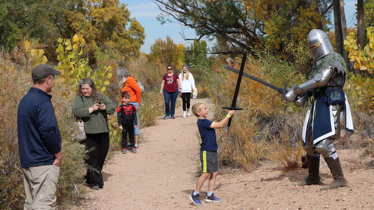
[[[282,132],[281,140],[274,138],[273,141],[267,142],[266,157],[281,166],[284,171],[298,168],[304,155],[301,143],[292,145],[287,135],[287,132]]]

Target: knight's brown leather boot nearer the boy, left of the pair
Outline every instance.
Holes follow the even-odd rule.
[[[306,159],[308,161],[309,175],[301,182],[295,183],[295,186],[318,185],[321,183],[319,178],[319,157],[306,155]]]

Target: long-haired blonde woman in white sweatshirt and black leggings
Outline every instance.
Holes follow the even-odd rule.
[[[182,88],[182,102],[183,102],[183,117],[186,117],[186,105],[187,105],[187,116],[190,116],[190,98],[191,98],[191,87],[197,92],[195,87],[195,80],[190,72],[188,72],[188,67],[186,64],[182,65],[182,72],[179,75]]]

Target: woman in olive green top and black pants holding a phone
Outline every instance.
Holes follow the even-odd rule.
[[[85,161],[95,169],[95,171],[88,169],[85,179],[92,189],[100,189],[104,185],[101,170],[109,150],[108,114],[114,114],[116,108],[117,105],[107,96],[96,92],[95,84],[91,79],[80,80],[78,95],[74,97],[72,109],[74,116],[81,118],[85,125],[87,138],[83,143],[89,150]]]

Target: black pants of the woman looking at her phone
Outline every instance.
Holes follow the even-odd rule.
[[[85,143],[89,152],[87,152],[88,157],[85,158],[85,162],[88,166],[97,170],[96,172],[92,169],[87,169],[86,183],[102,188],[104,181],[102,180],[101,170],[109,150],[109,133],[86,133],[86,136],[87,138],[83,143]]]

